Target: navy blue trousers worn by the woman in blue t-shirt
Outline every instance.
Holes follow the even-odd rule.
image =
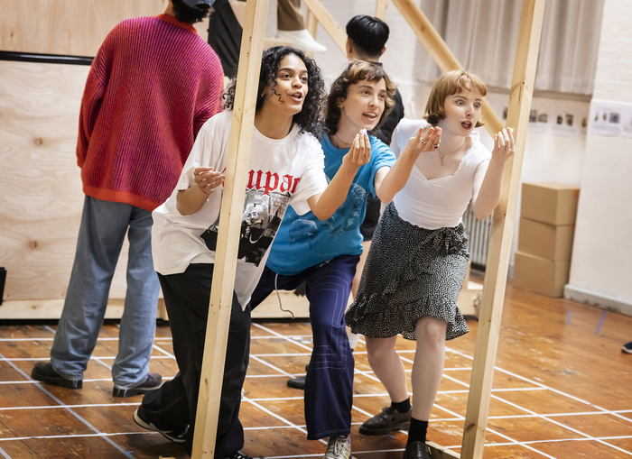
[[[329,262],[283,276],[265,267],[250,302],[256,308],[278,289],[293,290],[305,281],[310,301],[313,351],[305,381],[307,438],[349,435],[353,405],[354,360],[345,328],[345,309],[359,255],[340,255]]]

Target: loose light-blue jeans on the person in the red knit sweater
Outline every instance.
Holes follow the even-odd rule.
[[[112,379],[119,389],[144,382],[160,290],[153,271],[152,223],[148,210],[86,197],[70,284],[51,349],[52,368],[61,376],[83,379],[103,325],[110,284],[127,233],[127,291]]]

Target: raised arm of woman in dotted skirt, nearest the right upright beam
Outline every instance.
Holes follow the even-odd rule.
[[[505,163],[514,154],[515,147],[514,130],[503,129],[494,136],[491,160],[488,163],[479,164],[474,172],[472,212],[479,220],[490,216],[498,205]]]

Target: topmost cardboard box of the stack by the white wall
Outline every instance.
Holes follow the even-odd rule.
[[[561,183],[523,183],[520,216],[549,225],[575,225],[580,188]]]

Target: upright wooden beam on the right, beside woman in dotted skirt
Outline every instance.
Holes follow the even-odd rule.
[[[514,234],[516,203],[525,154],[526,129],[533,97],[535,67],[544,17],[544,0],[524,0],[516,49],[514,75],[509,95],[507,126],[514,128],[516,153],[505,165],[501,198],[494,211],[489,237],[488,263],[479,310],[468,411],[460,456],[483,457],[489,399],[494,377],[498,333],[505,299],[507,269]]]

